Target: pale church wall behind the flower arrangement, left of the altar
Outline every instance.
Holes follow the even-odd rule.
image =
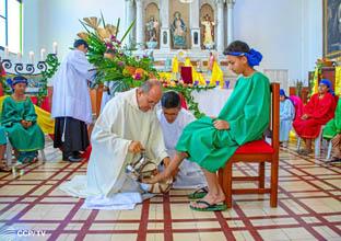
[[[31,1],[31,0],[30,0]],[[61,59],[79,32],[85,32],[80,19],[101,16],[106,23],[116,25],[120,18],[120,36],[125,33],[125,0],[40,0],[39,47],[52,50],[52,43],[58,43],[58,57]],[[28,37],[30,38],[30,37]]]

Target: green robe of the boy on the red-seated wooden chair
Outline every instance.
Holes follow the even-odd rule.
[[[213,126],[216,119],[227,120],[231,129],[216,129]],[[237,80],[217,118],[205,116],[186,126],[175,149],[188,152],[190,161],[216,172],[239,146],[260,139],[269,120],[270,82],[262,73],[255,72]]]

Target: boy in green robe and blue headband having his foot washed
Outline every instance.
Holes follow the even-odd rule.
[[[233,42],[224,51],[228,68],[236,74],[234,92],[217,117],[202,117],[190,123],[183,131],[169,165],[145,183],[169,179],[184,159],[202,167],[208,181],[208,194],[191,202],[195,210],[223,210],[225,195],[219,184],[216,171],[223,168],[236,149],[244,144],[262,138],[270,118],[270,82],[252,67],[262,56],[246,43]]]

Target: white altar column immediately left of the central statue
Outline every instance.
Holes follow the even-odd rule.
[[[160,48],[170,49],[170,31],[169,31],[169,14],[168,14],[169,0],[161,1],[161,34],[160,34]]]

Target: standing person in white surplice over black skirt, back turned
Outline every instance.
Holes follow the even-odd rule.
[[[56,118],[54,147],[62,149],[62,160],[79,162],[80,151],[89,147],[87,126],[92,108],[87,81],[95,71],[85,54],[89,45],[78,39],[54,77],[51,118]]]

